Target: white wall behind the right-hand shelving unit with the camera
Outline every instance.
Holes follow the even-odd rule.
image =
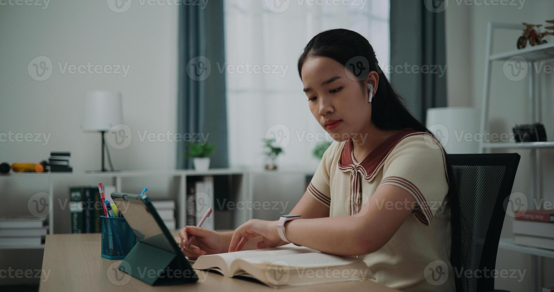
[[[484,86],[484,60],[486,43],[486,24],[493,22],[521,23],[531,22],[546,24],[546,19],[554,16],[554,2],[550,0],[525,1],[523,6],[458,6],[458,1],[449,1],[446,10],[447,18],[447,62],[448,62],[448,104],[449,106],[475,106],[481,109]],[[462,2],[464,3],[464,2]],[[470,2],[470,3],[483,3]],[[497,2],[498,3],[498,2]],[[511,1],[508,3],[512,3]],[[521,9],[518,9],[521,7]],[[496,35],[493,50],[495,53],[516,49],[516,40],[521,32],[502,31]],[[554,38],[547,37],[548,42]],[[552,64],[552,62],[550,62]],[[503,62],[494,63],[492,72],[492,90],[490,104],[489,131],[503,133],[511,132],[516,123],[529,122],[527,97],[529,86],[527,79],[511,81],[502,71]],[[552,101],[552,74],[541,73],[540,95],[542,96],[542,122],[545,124],[548,141],[554,141],[554,119],[551,112],[554,110]],[[507,150],[504,152],[515,152]],[[495,151],[499,152],[499,151]],[[530,151],[518,151],[521,155],[520,165],[512,192],[529,194],[530,189]],[[550,191],[554,183],[549,180],[554,171],[551,161],[554,152],[541,150],[543,162],[543,197],[552,202],[554,194]],[[504,222],[501,237],[512,237],[512,219],[507,217]],[[554,286],[552,268],[554,261],[545,260],[545,285]],[[532,269],[530,255],[499,250],[497,255],[497,269],[522,269],[526,271],[524,279],[497,279],[496,289],[510,291],[531,291],[536,271]]]

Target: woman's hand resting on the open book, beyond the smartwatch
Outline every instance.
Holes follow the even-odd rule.
[[[264,221],[259,219],[250,219],[246,223],[239,226],[233,232],[233,237],[229,244],[229,252],[239,252],[244,248],[248,240],[260,236],[260,240],[256,244],[256,248],[276,247],[283,243],[283,240],[277,233],[278,221]]]

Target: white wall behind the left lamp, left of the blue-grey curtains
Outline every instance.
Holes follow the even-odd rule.
[[[8,3],[7,1],[2,3]],[[44,2],[43,2],[44,3]],[[71,151],[74,171],[100,168],[100,134],[81,132],[84,94],[88,90],[121,91],[125,124],[132,129],[129,147],[111,148],[119,170],[175,168],[176,145],[140,142],[136,131],[176,131],[178,7],[140,6],[132,2],[124,13],[111,11],[106,1],[50,1],[36,6],[0,6],[0,133],[44,133],[42,142],[0,142],[0,162],[39,162],[50,151]],[[52,60],[49,79],[36,81],[28,73],[29,62],[45,55]],[[129,67],[125,78],[114,74],[62,74],[68,64]],[[63,180],[61,185],[95,184],[94,180]],[[111,183],[104,181],[105,184]],[[124,191],[151,189],[153,197],[171,197],[173,181],[124,180]],[[46,191],[44,178],[0,178],[0,213],[27,212],[27,199]],[[68,196],[66,187],[54,189],[54,199]],[[59,206],[54,206],[60,208]],[[69,211],[57,210],[58,232],[69,232]],[[24,252],[24,251],[23,251]],[[30,268],[37,257],[0,252],[2,266]],[[32,258],[32,259],[31,259]],[[35,268],[40,268],[40,265]],[[25,279],[3,279],[6,281]]]

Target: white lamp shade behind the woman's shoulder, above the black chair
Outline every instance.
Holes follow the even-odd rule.
[[[425,126],[439,139],[447,153],[478,153],[479,114],[473,107],[433,107],[427,110]]]

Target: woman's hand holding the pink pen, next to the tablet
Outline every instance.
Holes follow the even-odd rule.
[[[181,248],[187,246],[188,237],[192,235],[194,238],[191,240],[191,244],[183,250],[184,255],[188,258],[196,259],[200,255],[227,252],[227,245],[219,232],[196,226],[185,226],[179,230]]]

